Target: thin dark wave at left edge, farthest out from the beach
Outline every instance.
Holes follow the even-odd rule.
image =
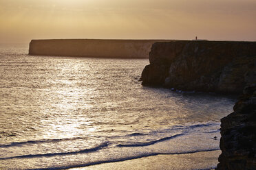
[[[14,142],[14,143],[9,143],[9,144],[3,144],[0,145],[0,147],[16,147],[16,146],[21,146],[21,145],[26,145],[26,144],[40,144],[40,143],[58,143],[61,141],[73,141],[73,140],[78,140],[78,139],[85,139],[82,137],[75,137],[75,138],[54,138],[54,139],[45,139],[45,140],[37,140],[37,141],[23,141],[23,142]]]

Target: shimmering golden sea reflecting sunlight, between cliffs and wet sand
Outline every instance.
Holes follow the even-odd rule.
[[[138,80],[148,60],[27,53],[0,46],[0,169],[219,149],[220,119],[233,98],[143,87]]]

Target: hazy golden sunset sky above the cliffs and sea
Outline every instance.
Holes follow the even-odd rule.
[[[0,43],[31,39],[256,40],[256,0],[0,0]]]

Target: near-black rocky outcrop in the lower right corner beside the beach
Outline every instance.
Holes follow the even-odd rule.
[[[234,112],[221,122],[217,170],[256,169],[256,84],[244,88]]]

